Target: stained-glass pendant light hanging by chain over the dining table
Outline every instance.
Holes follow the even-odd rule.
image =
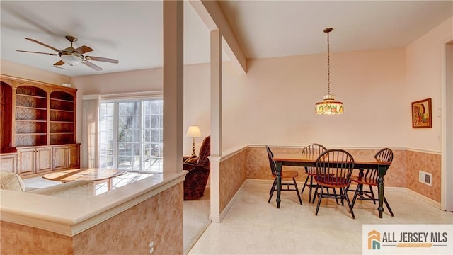
[[[333,28],[324,29],[327,33],[327,95],[324,95],[324,100],[315,104],[314,109],[316,114],[343,114],[343,103],[335,101],[335,96],[331,94],[331,49],[328,38],[328,33],[331,33]]]

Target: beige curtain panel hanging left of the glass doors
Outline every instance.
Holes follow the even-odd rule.
[[[98,116],[99,96],[83,96],[81,142],[81,167],[83,168],[96,168],[99,166]]]

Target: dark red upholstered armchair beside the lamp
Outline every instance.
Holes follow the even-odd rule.
[[[198,157],[185,159],[183,169],[189,171],[184,180],[184,200],[201,198],[205,193],[207,179],[210,176],[211,137],[203,140]]]

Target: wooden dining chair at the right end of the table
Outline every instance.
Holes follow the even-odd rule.
[[[380,161],[391,163],[394,160],[394,152],[389,148],[384,148],[380,149],[379,152],[374,155],[374,157],[376,159],[379,159]],[[373,201],[374,204],[376,204],[376,201],[379,200],[378,198],[374,197],[373,192],[373,187],[376,187],[378,184],[379,173],[377,172],[377,169],[364,169],[363,171],[365,171],[365,174],[363,176],[351,176],[351,181],[357,183],[357,188],[355,188],[355,190],[350,190],[355,191],[354,198],[352,198],[352,207],[354,207],[357,197],[359,200]],[[368,186],[369,190],[365,191],[364,186]],[[391,216],[393,217],[394,212],[391,211],[389,202],[387,202],[385,195],[384,203]]]

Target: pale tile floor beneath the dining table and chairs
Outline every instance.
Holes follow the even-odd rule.
[[[275,195],[268,203],[271,183],[249,181],[221,223],[212,222],[188,255],[197,254],[362,254],[363,224],[453,224],[453,214],[439,210],[408,193],[386,191],[395,217],[377,205],[357,201],[355,220],[335,200],[299,205],[294,192],[282,192],[280,209]],[[306,192],[308,193],[308,192]]]

